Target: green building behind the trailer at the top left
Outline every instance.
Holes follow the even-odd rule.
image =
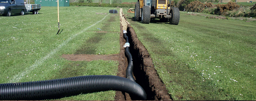
[[[41,6],[57,6],[57,0],[35,0],[35,4]],[[69,6],[69,0],[59,0],[59,6]]]

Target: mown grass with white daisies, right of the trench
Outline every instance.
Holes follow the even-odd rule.
[[[126,11],[128,9],[124,9]],[[176,25],[133,21],[173,100],[256,100],[256,23],[180,12]]]

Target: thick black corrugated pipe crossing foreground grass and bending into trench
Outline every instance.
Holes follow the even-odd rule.
[[[42,100],[107,90],[124,91],[137,96],[137,100],[146,99],[142,87],[129,79],[113,75],[89,75],[0,84],[0,100]]]

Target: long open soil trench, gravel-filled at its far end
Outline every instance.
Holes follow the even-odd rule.
[[[165,85],[159,78],[157,71],[154,69],[152,59],[143,44],[138,40],[138,37],[126,20],[126,17],[120,9],[120,54],[119,66],[117,76],[125,77],[125,70],[128,64],[128,57],[125,55],[125,48],[123,45],[126,43],[123,38],[123,30],[127,31],[127,36],[130,42],[130,53],[133,58],[133,76],[135,81],[142,86],[147,93],[146,100],[171,100]],[[117,91],[115,95],[116,100],[133,100],[133,95],[125,92]]]

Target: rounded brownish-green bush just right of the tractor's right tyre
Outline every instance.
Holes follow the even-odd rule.
[[[204,8],[203,5],[200,1],[193,1],[187,5],[186,11],[201,12]]]

